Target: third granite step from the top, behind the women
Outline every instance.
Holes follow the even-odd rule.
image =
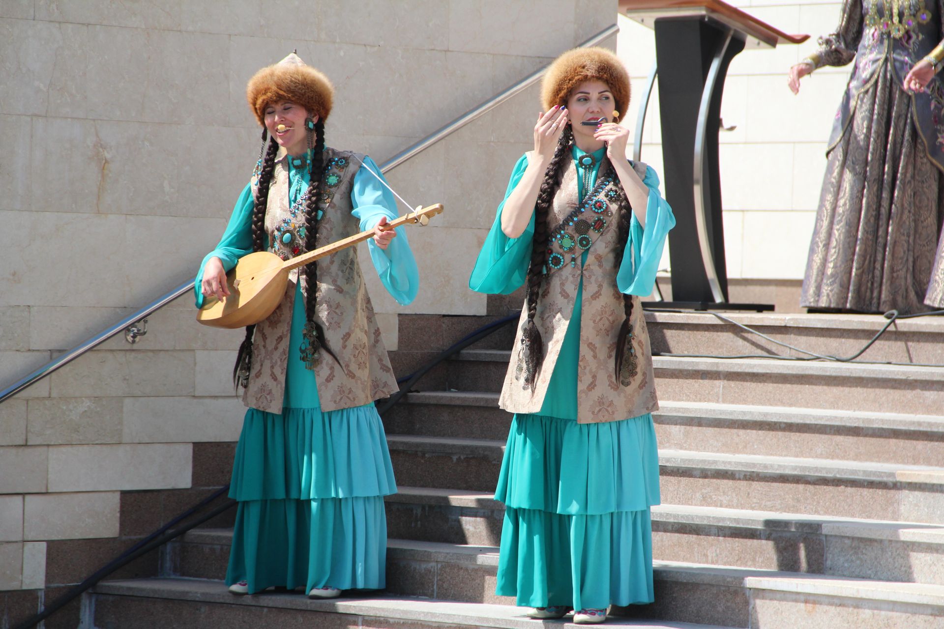
[[[511,418],[498,408],[496,392],[417,391],[383,421],[394,435],[506,439]],[[942,416],[663,401],[652,419],[659,445],[670,450],[944,462]]]

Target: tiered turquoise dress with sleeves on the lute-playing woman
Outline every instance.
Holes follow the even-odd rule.
[[[364,164],[379,174],[366,157]],[[381,175],[382,176],[382,175]],[[289,171],[289,202],[308,189],[307,170]],[[396,201],[364,170],[351,189],[361,229],[381,216],[396,218]],[[252,251],[252,190],[246,186],[227,231],[204,258],[229,271]],[[419,274],[403,228],[386,251],[371,240],[371,259],[384,287],[400,304],[416,296]],[[291,344],[281,414],[249,408],[236,446],[229,496],[239,501],[227,585],[246,581],[250,592],[286,588],[384,588],[387,521],[383,496],[396,493],[383,424],[373,403],[323,412],[314,372],[299,357],[305,300],[295,289]]]

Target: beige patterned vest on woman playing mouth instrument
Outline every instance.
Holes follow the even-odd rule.
[[[598,176],[602,177],[608,168],[609,162],[604,158]],[[640,177],[645,176],[646,165],[637,162],[635,170]],[[577,169],[568,168],[561,189],[554,196],[551,211],[548,212],[548,233],[578,206],[580,201],[577,190]],[[615,209],[615,203],[608,205]],[[615,377],[616,339],[620,325],[626,318],[623,295],[616,289],[616,260],[623,253],[617,242],[617,218],[615,212],[614,216],[607,218],[607,227],[588,250],[586,264],[581,265],[581,256],[578,254],[575,266],[571,266],[567,258],[563,266],[557,270],[548,268],[550,273],[544,276],[534,323],[544,340],[545,356],[533,392],[530,388],[524,388],[522,380],[515,378],[517,356],[521,348],[521,325],[528,318],[527,307],[522,309],[512,360],[499,400],[499,406],[505,410],[512,413],[537,413],[541,410],[550,375],[561,354],[581,278],[580,362],[577,386],[567,391],[577,396],[577,421],[615,422],[658,410],[649,333],[639,298],[635,296],[632,297],[632,329],[635,331],[632,342],[638,359],[638,370],[628,387],[620,385]]]

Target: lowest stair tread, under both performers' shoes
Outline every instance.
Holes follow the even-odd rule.
[[[530,629],[545,626],[543,621],[525,618],[521,608],[510,605],[453,603],[418,597],[382,595],[316,601],[299,594],[284,592],[262,592],[252,596],[237,597],[227,591],[222,581],[182,577],[105,581],[98,584],[95,591],[99,594],[115,596],[187,600],[202,604],[283,607],[399,621],[441,622],[497,629]],[[555,622],[554,624],[561,627],[579,626],[570,622]],[[606,624],[612,627],[648,627],[649,629],[726,629],[716,625],[638,621],[618,617],[608,619]]]

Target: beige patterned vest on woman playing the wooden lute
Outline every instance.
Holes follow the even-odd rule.
[[[324,212],[318,224],[317,246],[340,240],[360,231],[358,220],[351,214],[350,200],[354,175],[360,162],[351,155],[362,155],[325,149],[326,176],[318,207]],[[285,243],[276,238],[279,225],[292,220],[289,207],[289,172],[286,157],[276,162],[269,202],[265,212],[265,231],[270,251],[283,258],[301,253],[297,241]],[[300,223],[299,223],[300,222]],[[303,212],[295,223],[304,223]],[[300,239],[304,240],[304,239]],[[315,318],[325,329],[325,338],[338,364],[325,350],[314,366],[321,409],[325,411],[362,406],[387,397],[396,387],[387,350],[380,339],[380,328],[374,308],[367,296],[357,248],[347,249],[322,258],[318,265],[318,295]],[[285,393],[285,372],[289,358],[289,334],[298,271],[289,276],[285,297],[269,317],[256,326],[252,345],[252,367],[243,395],[246,406],[270,413],[282,412]],[[302,286],[305,292],[304,285]],[[342,367],[343,365],[343,367]]]

